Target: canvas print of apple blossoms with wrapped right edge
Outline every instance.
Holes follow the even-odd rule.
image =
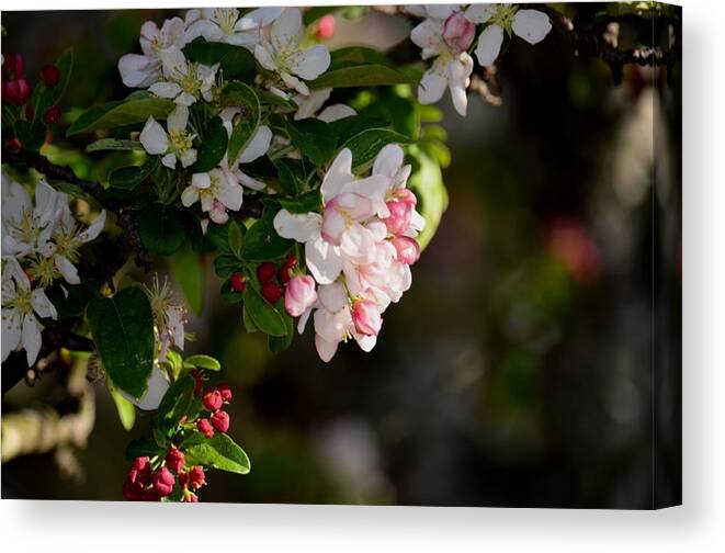
[[[2,12],[3,499],[681,503],[681,9]]]

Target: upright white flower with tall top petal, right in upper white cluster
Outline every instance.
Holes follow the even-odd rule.
[[[299,9],[285,10],[272,23],[269,40],[254,47],[254,57],[264,69],[279,72],[288,88],[308,94],[309,89],[301,79],[311,80],[324,74],[330,66],[330,53],[322,45],[302,49],[304,36]]]

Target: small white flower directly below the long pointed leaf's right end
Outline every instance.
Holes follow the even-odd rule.
[[[167,119],[167,133],[154,119],[148,117],[140,134],[140,143],[147,154],[163,156],[161,162],[169,169],[177,167],[177,160],[182,167],[189,167],[196,161],[196,150],[192,147],[195,134],[186,129],[189,108],[177,105]]]

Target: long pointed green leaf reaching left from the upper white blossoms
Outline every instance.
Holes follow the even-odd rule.
[[[165,120],[174,109],[171,100],[141,97],[94,105],[83,112],[68,128],[66,136],[89,133],[98,128],[145,123],[148,117]]]

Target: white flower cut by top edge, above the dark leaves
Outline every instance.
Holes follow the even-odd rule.
[[[223,42],[236,46],[254,46],[262,27],[280,16],[284,8],[259,8],[239,16],[236,8],[204,8],[186,14],[185,40],[203,36],[207,42]]]

